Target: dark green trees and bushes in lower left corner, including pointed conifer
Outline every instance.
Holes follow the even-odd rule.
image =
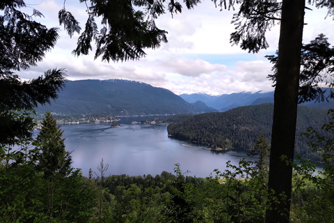
[[[62,131],[50,113],[30,148],[1,146],[1,222],[90,222],[95,214],[97,189],[70,167]]]

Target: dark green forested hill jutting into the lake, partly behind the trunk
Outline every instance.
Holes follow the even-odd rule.
[[[168,125],[168,134],[177,139],[208,144],[212,148],[250,149],[257,137],[264,133],[271,139],[273,104],[261,104],[230,109],[227,112],[213,112],[191,116],[180,123]],[[310,157],[305,137],[299,137],[306,128],[319,130],[331,117],[327,109],[299,106],[296,125],[296,153]]]

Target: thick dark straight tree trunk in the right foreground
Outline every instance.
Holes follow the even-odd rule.
[[[267,223],[289,222],[292,167],[281,157],[294,159],[304,8],[304,0],[283,0],[269,164],[269,192],[279,203],[271,203]]]

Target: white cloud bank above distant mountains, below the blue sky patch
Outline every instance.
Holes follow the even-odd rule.
[[[267,78],[270,72],[271,64],[267,61],[239,61],[220,72],[207,72],[197,76],[185,76],[174,72],[166,77],[168,81],[164,87],[177,94],[267,92],[273,91],[272,82]]]

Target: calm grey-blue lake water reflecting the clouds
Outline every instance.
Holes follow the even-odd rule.
[[[243,157],[250,159],[246,151],[217,153],[205,146],[171,139],[164,125],[131,125],[132,120],[122,118],[120,128],[110,128],[108,123],[61,125],[66,150],[72,151],[72,166],[88,176],[89,169],[97,171],[103,158],[104,164],[109,164],[106,176],[155,176],[162,171],[173,173],[174,164],[180,163],[182,171],[191,171],[186,175],[205,177],[214,174],[214,169],[223,171],[228,160],[237,164]]]

